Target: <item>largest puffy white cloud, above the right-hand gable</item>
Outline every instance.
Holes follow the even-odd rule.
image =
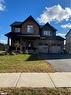
[[[40,17],[37,18],[39,23],[47,23],[51,21],[58,21],[61,22],[63,20],[68,21],[71,17],[71,8],[66,7],[62,8],[61,5],[55,5],[52,7],[45,7],[45,10],[40,15]]]

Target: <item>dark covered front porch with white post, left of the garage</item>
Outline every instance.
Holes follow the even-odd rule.
[[[40,35],[22,35],[21,33],[8,33],[8,52],[14,51],[18,53],[32,53],[36,52],[34,42],[40,38]]]

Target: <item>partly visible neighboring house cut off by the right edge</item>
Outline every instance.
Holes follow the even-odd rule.
[[[66,34],[66,52],[71,53],[71,29]]]

